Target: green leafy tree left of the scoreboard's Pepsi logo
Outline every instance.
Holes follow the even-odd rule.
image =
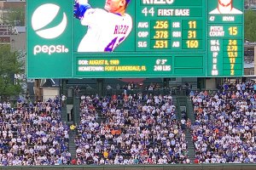
[[[15,80],[15,74],[23,72],[20,54],[11,52],[9,45],[0,46],[0,96],[2,100],[19,95],[22,91],[20,80]]]

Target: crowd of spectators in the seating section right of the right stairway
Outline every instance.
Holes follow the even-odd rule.
[[[255,92],[255,83],[236,82],[190,94],[196,163],[256,163]]]

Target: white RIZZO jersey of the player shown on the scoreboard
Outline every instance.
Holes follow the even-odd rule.
[[[81,20],[88,31],[79,44],[78,52],[113,51],[130,34],[132,20],[129,14],[121,16],[100,8],[90,8]]]

